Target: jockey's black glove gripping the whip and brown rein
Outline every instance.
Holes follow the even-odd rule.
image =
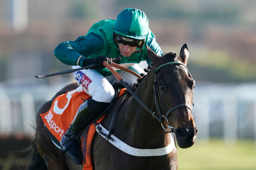
[[[105,57],[104,55],[98,56],[96,58],[85,58],[83,60],[83,67],[89,66],[91,64],[98,64],[97,66],[95,66],[91,69],[105,68],[105,66],[103,66],[103,61],[106,61],[108,64],[111,64],[112,63],[112,58]]]

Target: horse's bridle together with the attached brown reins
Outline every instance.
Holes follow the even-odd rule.
[[[156,118],[156,119],[161,123],[163,130],[165,130],[165,131],[167,131],[167,132],[170,131],[170,129],[174,129],[172,126],[170,126],[170,124],[169,124],[169,122],[168,122],[168,119],[167,119],[168,116],[169,116],[169,114],[170,114],[172,111],[174,111],[174,110],[177,109],[177,108],[181,108],[181,107],[187,107],[187,108],[189,108],[189,109],[192,111],[191,107],[190,107],[188,104],[182,103],[182,104],[178,104],[178,105],[172,107],[171,109],[169,109],[168,112],[166,112],[165,108],[163,107],[163,104],[162,104],[160,95],[159,95],[158,82],[157,82],[157,80],[156,80],[156,74],[157,74],[158,70],[159,70],[160,68],[164,67],[164,66],[167,66],[167,65],[177,65],[177,64],[181,64],[181,65],[183,65],[183,66],[187,69],[187,67],[185,66],[185,64],[183,64],[182,62],[169,62],[169,63],[165,63],[165,64],[160,65],[158,68],[156,68],[156,69],[154,70],[155,78],[154,78],[154,95],[153,95],[153,98],[155,98],[155,100],[154,100],[154,101],[155,101],[155,104],[156,104],[156,102],[157,102],[158,111],[159,111],[159,113],[158,113],[158,112],[152,112],[152,111],[150,110],[150,108],[148,108],[148,107],[139,99],[139,97],[136,96],[136,94],[134,94],[134,92],[130,89],[130,87],[124,82],[124,80],[122,79],[122,77],[120,77],[120,75],[119,75],[111,66],[116,67],[116,68],[121,69],[121,70],[124,70],[124,71],[127,71],[127,72],[129,72],[129,73],[135,75],[135,76],[138,77],[138,78],[142,78],[142,77],[140,77],[140,75],[138,75],[137,73],[133,72],[132,70],[130,70],[130,69],[126,68],[126,67],[120,66],[120,65],[118,65],[118,64],[116,64],[116,63],[112,63],[111,65],[109,65],[108,63],[106,63],[105,61],[103,61],[103,65],[104,65],[106,68],[108,68],[108,69],[112,72],[112,74],[116,77],[116,79],[117,79],[120,83],[122,83],[122,84],[125,86],[125,88],[126,88],[126,89],[129,91],[129,93],[134,97],[134,99],[136,99],[136,100],[140,103],[140,105],[142,105],[142,107],[144,107],[144,108],[146,109],[147,112],[149,112],[154,118]],[[161,105],[162,105],[162,108],[163,108],[164,111],[166,112],[166,117],[161,114],[161,109],[160,109],[159,101],[160,101],[160,103],[161,103]],[[163,126],[162,118],[164,118],[164,119],[167,121],[167,123],[168,123],[167,129],[165,129],[165,127]]]

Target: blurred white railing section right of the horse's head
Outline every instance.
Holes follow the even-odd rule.
[[[256,141],[256,84],[199,83],[194,90],[193,117],[198,137]]]

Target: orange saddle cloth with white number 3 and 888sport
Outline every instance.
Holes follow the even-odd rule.
[[[124,94],[126,89],[121,89],[118,97]],[[66,94],[58,96],[52,103],[48,112],[40,114],[46,131],[51,137],[53,143],[60,148],[62,135],[68,130],[72,123],[77,109],[90,96],[86,94],[81,87],[71,90]],[[82,100],[83,99],[83,100]],[[100,117],[96,123],[99,124],[105,115]],[[84,167],[83,170],[93,170],[91,161],[91,142],[93,141],[96,127],[93,123],[85,130],[81,139],[81,149],[83,151]]]

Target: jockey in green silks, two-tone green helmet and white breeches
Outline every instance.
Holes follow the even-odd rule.
[[[147,56],[145,44],[156,54],[162,55],[154,34],[148,28],[148,19],[144,12],[138,9],[123,10],[116,20],[102,20],[95,23],[85,36],[75,41],[59,44],[54,55],[64,64],[72,65],[73,69],[98,64],[97,67],[74,72],[77,83],[91,96],[78,109],[68,131],[63,134],[60,144],[67,155],[76,163],[82,164],[80,132],[95,120],[110,105],[115,91],[112,87],[118,80],[102,63],[112,63],[112,58],[121,57],[120,65],[128,67],[140,74],[144,71],[138,66],[141,61],[151,60]],[[125,82],[133,84],[137,77],[116,70]]]

